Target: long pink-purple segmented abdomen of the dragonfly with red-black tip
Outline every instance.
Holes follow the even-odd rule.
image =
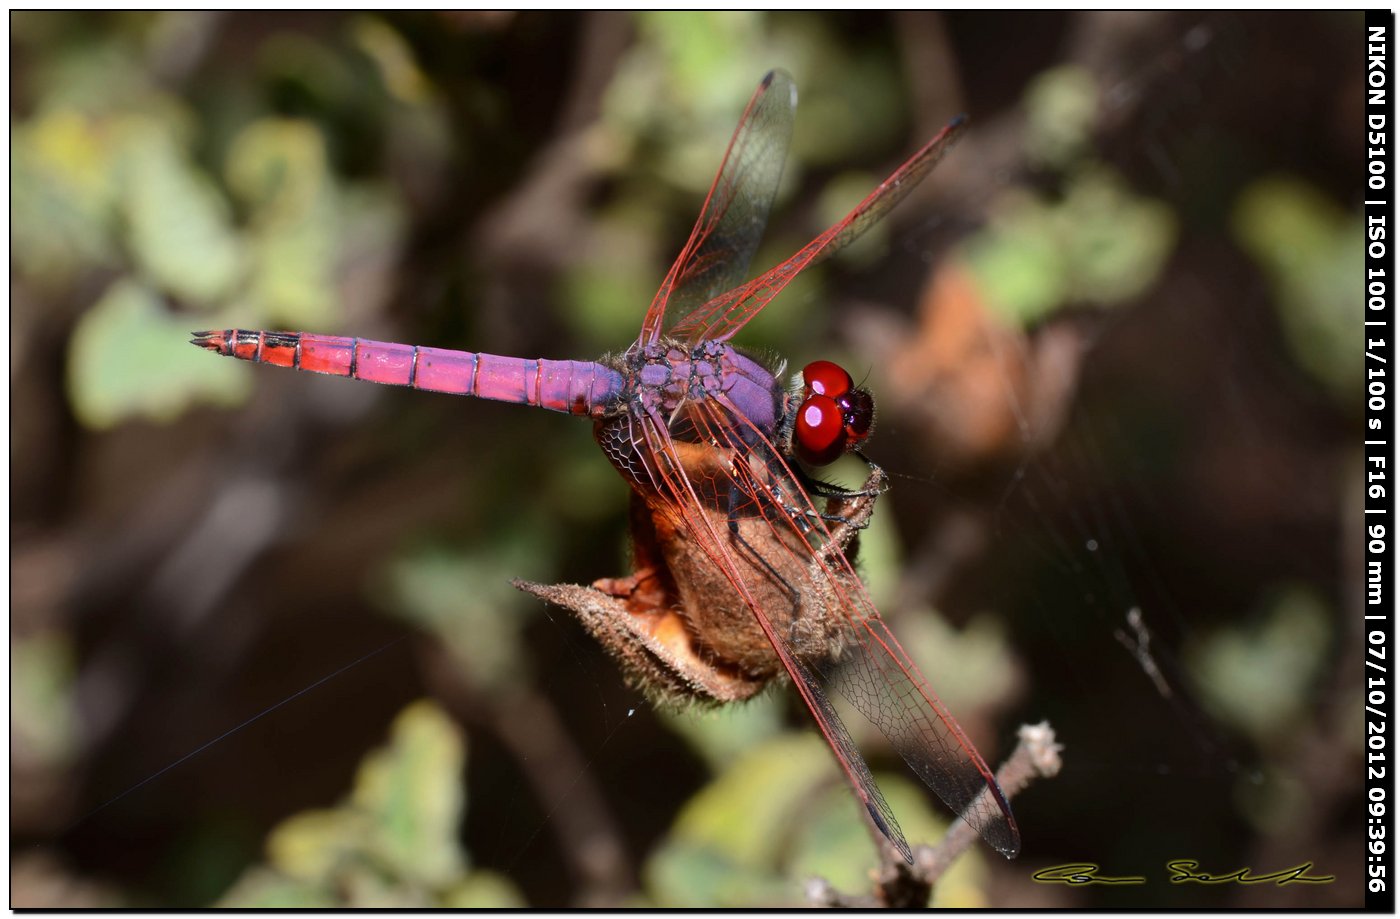
[[[526,360],[304,332],[224,329],[196,332],[192,340],[256,364],[536,405],[566,415],[602,417],[623,389],[622,374],[588,360]]]

